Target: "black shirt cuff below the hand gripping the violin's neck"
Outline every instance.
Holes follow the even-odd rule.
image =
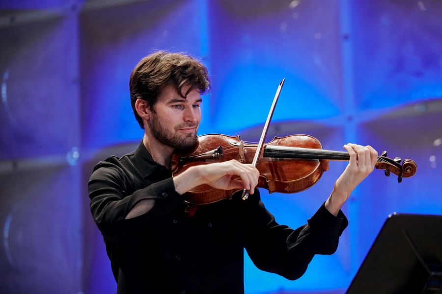
[[[339,210],[338,215],[335,217],[327,210],[325,202],[307,222],[312,231],[335,238],[341,236],[344,229],[348,226],[348,220],[344,213]]]

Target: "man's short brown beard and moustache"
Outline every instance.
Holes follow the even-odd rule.
[[[180,137],[178,133],[172,134],[170,130],[168,130],[164,125],[160,123],[160,120],[156,115],[153,115],[151,120],[147,121],[147,124],[150,127],[150,131],[152,135],[157,139],[160,143],[173,147],[175,149],[187,149],[195,146],[198,142],[198,136],[195,133],[186,134],[185,137]],[[183,124],[177,127],[194,127],[196,124]]]

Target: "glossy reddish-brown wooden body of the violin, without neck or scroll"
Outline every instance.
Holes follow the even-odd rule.
[[[209,134],[198,137],[198,144],[193,150],[173,154],[171,167],[173,175],[177,175],[192,166],[223,162],[235,159],[241,163],[251,163],[256,152],[255,144],[245,144],[240,136]],[[292,135],[282,138],[275,137],[267,146],[291,146],[311,149],[322,149],[321,143],[308,135]],[[219,154],[210,153],[221,147]],[[257,169],[260,172],[257,188],[264,188],[269,193],[295,193],[308,189],[319,181],[324,171],[328,170],[325,159],[293,159],[266,157],[266,147],[261,151]],[[201,154],[209,153],[209,155]],[[194,157],[196,156],[196,157]],[[221,199],[230,199],[242,189],[217,190],[209,185],[200,185],[186,193],[186,200],[193,204],[208,204]]]

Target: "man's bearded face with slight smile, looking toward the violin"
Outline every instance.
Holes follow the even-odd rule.
[[[183,93],[189,86],[183,87]],[[200,103],[197,90],[182,98],[172,86],[166,86],[150,111],[147,125],[152,135],[162,144],[174,148],[193,147],[198,141],[196,132],[201,121]]]

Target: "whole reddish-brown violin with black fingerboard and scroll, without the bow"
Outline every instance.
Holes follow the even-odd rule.
[[[244,143],[240,136],[209,134],[198,137],[195,147],[179,150],[172,155],[171,169],[173,176],[186,171],[190,167],[223,162],[231,159],[241,163],[252,163],[258,145]],[[324,150],[321,143],[309,135],[291,135],[275,137],[271,142],[260,148],[256,168],[260,172],[258,188],[269,193],[296,193],[304,191],[321,178],[329,169],[330,160],[350,160],[345,151]],[[382,169],[387,176],[394,173],[398,182],[402,178],[411,177],[416,173],[417,165],[411,159],[396,157],[390,159],[384,151],[378,156],[376,169]],[[209,185],[200,185],[185,194],[187,201],[194,205],[209,204],[222,199],[230,199],[241,189],[218,190]]]

